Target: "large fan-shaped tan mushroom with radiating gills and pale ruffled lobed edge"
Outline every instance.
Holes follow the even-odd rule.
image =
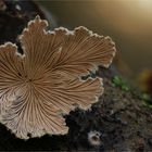
[[[0,122],[22,139],[66,134],[62,114],[87,110],[103,93],[101,78],[80,76],[107,67],[116,52],[109,37],[86,27],[47,26],[39,16],[28,23],[20,37],[23,54],[11,42],[0,46]]]

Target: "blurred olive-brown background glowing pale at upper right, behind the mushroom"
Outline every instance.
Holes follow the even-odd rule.
[[[140,80],[152,77],[152,0],[36,2],[51,12],[54,26],[86,26],[112,37],[118,51],[115,63],[123,75]]]

